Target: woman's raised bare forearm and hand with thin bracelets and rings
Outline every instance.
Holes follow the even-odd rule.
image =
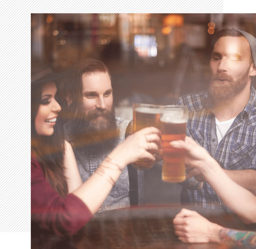
[[[96,213],[127,164],[140,159],[155,161],[148,150],[159,150],[159,136],[160,131],[155,127],[147,127],[128,136],[73,194],[86,204],[92,214]]]

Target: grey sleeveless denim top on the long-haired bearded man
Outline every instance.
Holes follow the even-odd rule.
[[[129,121],[123,120],[122,118],[116,118],[116,123],[117,127],[120,129],[119,143],[121,143],[125,139],[125,131]],[[66,123],[64,125],[64,134],[65,139],[70,141],[71,123]],[[73,148],[73,151],[76,157],[76,162],[82,178],[82,182],[86,181],[94,173],[96,168],[111,152],[108,148],[106,148],[104,151],[94,151],[88,146]],[[138,188],[139,204],[144,204],[144,174],[140,170],[138,170]],[[116,181],[116,184],[107,196],[106,200],[99,208],[98,212],[129,206],[129,175],[126,166]]]

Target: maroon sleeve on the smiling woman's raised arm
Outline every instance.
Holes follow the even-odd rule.
[[[74,194],[63,199],[44,177],[39,162],[31,156],[31,217],[57,235],[73,235],[92,214]]]

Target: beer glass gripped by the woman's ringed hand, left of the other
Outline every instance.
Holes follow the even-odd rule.
[[[133,104],[133,132],[149,126],[159,128],[161,107],[161,105]],[[156,161],[158,158],[161,158],[160,154],[154,156]],[[139,161],[132,164],[134,168],[139,170],[147,170],[152,168],[153,165],[154,163],[152,164],[152,162],[146,161]]]

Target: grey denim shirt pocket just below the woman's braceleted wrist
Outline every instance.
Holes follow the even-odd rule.
[[[129,194],[129,175],[127,166],[123,169],[119,178],[117,179],[114,187],[111,190],[111,194],[115,198],[121,198]]]

